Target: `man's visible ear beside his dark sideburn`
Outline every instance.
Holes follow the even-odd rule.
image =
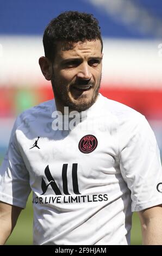
[[[39,65],[42,71],[43,76],[46,80],[51,80],[52,77],[52,63],[50,60],[44,56],[39,58]]]

